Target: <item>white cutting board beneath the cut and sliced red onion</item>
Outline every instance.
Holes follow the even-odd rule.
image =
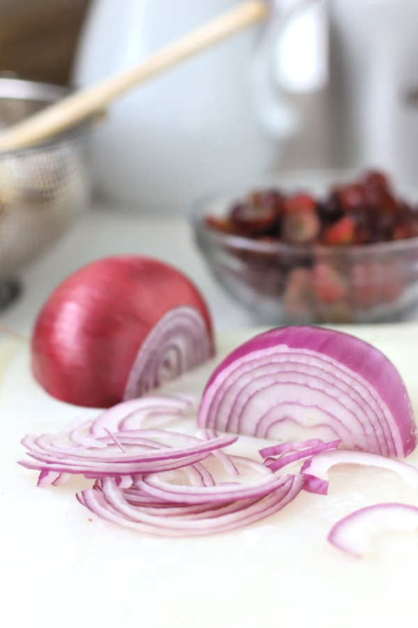
[[[401,371],[418,417],[418,326],[353,327]],[[215,363],[256,330],[219,338],[212,364],[167,391],[199,392]],[[15,463],[20,438],[79,413],[33,381],[27,347],[0,343],[0,625],[8,628],[370,628],[417,625],[418,531],[387,533],[369,556],[326,540],[348,512],[380,501],[418,506],[391,472],[336,468],[330,495],[301,493],[249,528],[164,539],[103,521],[75,500],[88,484],[36,488]],[[408,462],[418,466],[418,453]]]

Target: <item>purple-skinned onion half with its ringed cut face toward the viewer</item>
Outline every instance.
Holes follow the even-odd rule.
[[[199,426],[262,438],[341,440],[406,456],[417,431],[405,385],[375,347],[330,329],[272,329],[238,347],[203,393]]]

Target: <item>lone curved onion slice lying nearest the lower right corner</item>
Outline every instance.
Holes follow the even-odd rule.
[[[409,504],[375,504],[338,521],[328,534],[337,548],[357,558],[366,553],[371,538],[387,530],[417,530],[418,508]]]

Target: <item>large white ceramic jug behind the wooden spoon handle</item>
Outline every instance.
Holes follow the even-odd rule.
[[[85,87],[132,66],[240,1],[94,0],[74,82]],[[273,91],[266,57],[274,38],[273,20],[115,103],[95,138],[102,193],[135,207],[183,211],[208,190],[272,170],[296,127]]]

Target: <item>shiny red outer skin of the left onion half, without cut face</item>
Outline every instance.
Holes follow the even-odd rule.
[[[38,316],[31,344],[33,375],[61,401],[109,408],[123,400],[132,365],[155,324],[183,307],[201,315],[210,357],[208,308],[183,274],[137,255],[88,264],[56,288]]]

